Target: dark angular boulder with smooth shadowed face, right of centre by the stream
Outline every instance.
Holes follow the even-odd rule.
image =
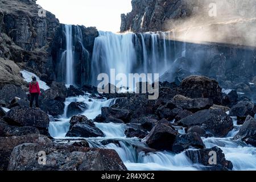
[[[172,151],[172,145],[174,144],[177,135],[178,133],[170,126],[158,123],[150,131],[145,140],[150,148],[162,151]]]

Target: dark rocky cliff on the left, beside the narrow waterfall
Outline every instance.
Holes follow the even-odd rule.
[[[91,54],[97,30],[82,27],[81,31]],[[0,0],[0,40],[0,57],[13,60],[46,82],[57,80],[60,60],[54,53],[65,46],[63,24],[35,0]]]

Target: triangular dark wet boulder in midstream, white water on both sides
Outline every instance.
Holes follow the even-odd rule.
[[[70,124],[66,137],[105,137],[104,133],[95,126],[92,120],[89,120],[84,115],[72,117]]]

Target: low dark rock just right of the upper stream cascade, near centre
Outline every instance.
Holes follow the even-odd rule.
[[[121,119],[124,122],[129,122],[130,120],[130,111],[126,109],[116,109],[112,107],[102,107],[101,115],[104,118],[113,117],[116,119]]]

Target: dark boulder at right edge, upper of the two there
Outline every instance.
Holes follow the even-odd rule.
[[[247,115],[251,115],[254,117],[256,113],[256,106],[253,102],[249,101],[240,101],[233,107],[231,107],[230,115],[237,117],[238,123],[243,123],[247,117]]]

